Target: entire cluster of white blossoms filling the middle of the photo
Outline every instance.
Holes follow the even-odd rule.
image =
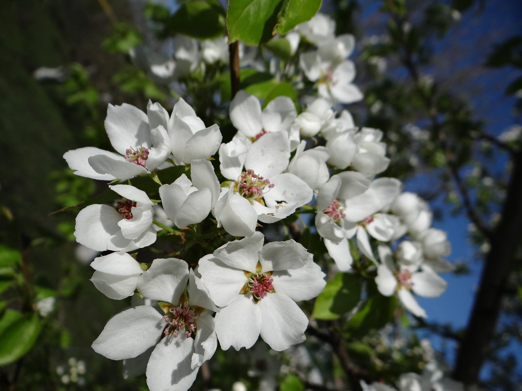
[[[145,299],[112,317],[92,347],[124,360],[125,377],[146,373],[151,391],[188,389],[218,341],[222,349],[239,350],[260,336],[281,351],[305,339],[309,320],[296,302],[321,293],[325,273],[300,243],[265,243],[259,230],[303,209],[314,211],[317,233],[338,270],[352,271],[353,242],[376,271],[379,292],[397,295],[414,315],[426,316],[412,292],[437,297],[446,288],[437,273],[451,268],[444,260],[449,242],[431,228],[428,204],[401,193],[399,180],[376,177],[390,163],[383,132],[357,127],[348,111],[336,110],[362,94],[347,59],[353,37],[335,36],[332,23],[318,15],[294,32],[317,46],[301,55],[300,65],[317,81],[318,96],[299,114],[287,96],[262,108],[257,97],[239,91],[229,107],[237,133],[222,142],[219,126],[207,126],[182,97],[170,113],[150,101],[146,113],[110,104],[105,129],[115,152],[85,147],[64,155],[75,174],[111,181],[119,197],[76,217],[78,243],[111,251],[91,263],[92,283],[111,299]],[[206,57],[212,57],[209,45],[203,45]],[[140,175],[159,181],[159,170],[179,165],[189,167],[189,175],[161,184],[159,200],[116,183]],[[194,268],[178,258],[140,264],[129,252],[156,242],[159,202],[170,226],[213,221],[236,239]]]

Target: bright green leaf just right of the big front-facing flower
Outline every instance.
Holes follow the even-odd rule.
[[[312,316],[316,319],[336,319],[350,311],[361,299],[361,280],[351,273],[337,273],[317,296]]]

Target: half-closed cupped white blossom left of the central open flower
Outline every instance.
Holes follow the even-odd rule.
[[[191,177],[192,181],[182,174],[159,189],[165,213],[178,228],[203,221],[220,193],[218,178],[208,160],[191,161]]]

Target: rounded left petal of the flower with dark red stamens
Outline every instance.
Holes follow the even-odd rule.
[[[76,241],[93,250],[107,250],[111,238],[120,233],[118,221],[121,219],[122,216],[109,205],[89,205],[76,216]]]

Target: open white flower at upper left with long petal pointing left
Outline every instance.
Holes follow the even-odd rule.
[[[117,153],[92,146],[71,150],[64,154],[69,167],[76,175],[101,180],[125,180],[151,173],[165,162],[171,149],[167,124],[153,118],[156,106],[159,104],[149,101],[145,114],[126,103],[109,104],[105,130]]]

